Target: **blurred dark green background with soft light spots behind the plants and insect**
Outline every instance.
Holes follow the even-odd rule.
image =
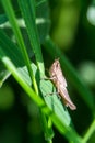
[[[15,1],[13,4],[14,9],[17,10]],[[95,92],[95,1],[49,0],[49,11],[52,41]],[[10,35],[10,30],[7,31]],[[26,43],[28,45],[28,40]],[[54,59],[45,50],[43,50],[43,55],[46,68],[49,68]],[[92,122],[92,113],[70,82],[69,90],[70,95],[73,95],[72,100],[74,99],[78,106],[76,111],[69,110],[69,112],[76,132],[82,135]],[[55,128],[54,131],[55,143],[68,142]],[[0,143],[44,142],[46,141],[38,108],[28,99],[17,82],[10,77],[0,88]],[[95,142],[95,134],[88,142]]]

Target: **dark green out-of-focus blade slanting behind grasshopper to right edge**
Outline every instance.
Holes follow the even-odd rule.
[[[50,37],[48,36],[45,42],[45,50],[51,55],[51,57],[60,57],[61,67],[63,68],[63,73],[69,77],[72,85],[75,87],[75,89],[79,91],[80,96],[83,98],[83,100],[86,102],[86,105],[90,107],[90,109],[94,111],[94,99],[93,94],[88,89],[88,87],[84,84],[84,81],[81,79],[81,77],[78,75],[75,69],[72,67],[70,62],[67,59],[67,57],[61,53],[61,51],[52,43]]]

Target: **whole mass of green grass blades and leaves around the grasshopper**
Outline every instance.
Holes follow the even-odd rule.
[[[48,2],[45,0],[28,0],[28,2],[27,0],[19,0],[17,2],[22,18],[25,22],[31,50],[34,53],[36,62],[32,62],[32,57],[29,58],[28,56],[27,48],[17,23],[17,18],[15,16],[17,12],[13,9],[10,0],[1,0],[5,13],[0,15],[0,23],[4,24],[7,21],[10,22],[16,43],[7,35],[3,29],[0,29],[0,86],[3,85],[10,75],[12,75],[27,94],[29,99],[38,106],[41,124],[44,127],[43,132],[47,142],[52,142],[54,124],[69,142],[86,143],[95,130],[94,96],[75,72],[71,63],[50,40]],[[35,21],[37,18],[39,23],[36,25]],[[93,122],[86,130],[84,136],[81,136],[73,128],[74,125],[71,125],[71,116],[63,107],[62,102],[58,99],[57,95],[45,96],[47,94],[51,94],[52,89],[56,91],[56,88],[50,80],[41,79],[43,77],[46,77],[46,75],[40,43],[43,43],[43,47],[47,51],[49,57],[60,57],[64,75],[71,81],[75,90],[90,108],[90,112],[93,114]]]

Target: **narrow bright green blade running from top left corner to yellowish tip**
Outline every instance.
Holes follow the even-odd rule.
[[[25,61],[25,64],[27,65],[27,69],[28,69],[31,79],[33,80],[34,89],[38,94],[38,88],[37,88],[37,84],[36,84],[35,77],[34,77],[32,68],[31,68],[31,62],[29,62],[29,58],[28,58],[28,54],[26,52],[21,31],[20,31],[20,29],[17,26],[16,19],[15,19],[15,15],[14,15],[14,11],[13,11],[11,1],[10,0],[1,0],[1,2],[2,2],[2,6],[3,6],[3,8],[4,8],[5,12],[7,12],[9,21],[10,21],[10,23],[12,25],[12,29],[13,29],[13,32],[15,34],[16,41],[17,41],[19,46],[21,48],[21,52],[23,54],[23,58]]]

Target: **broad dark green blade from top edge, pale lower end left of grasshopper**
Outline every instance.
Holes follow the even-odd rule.
[[[19,6],[22,12],[22,15],[25,20],[26,24],[26,30],[28,33],[28,37],[31,41],[32,48],[35,53],[36,57],[36,63],[39,69],[39,73],[45,73],[44,69],[44,62],[43,62],[43,56],[41,56],[41,50],[40,50],[40,44],[39,44],[39,38],[38,38],[38,32],[36,28],[36,15],[35,15],[35,2],[34,0],[19,0]]]

